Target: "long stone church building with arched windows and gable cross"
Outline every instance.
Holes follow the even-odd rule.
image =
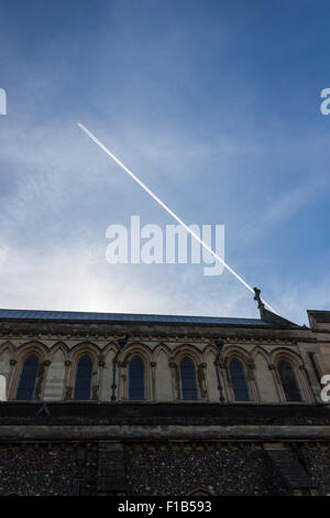
[[[330,312],[310,327],[0,310],[0,495],[329,495]]]

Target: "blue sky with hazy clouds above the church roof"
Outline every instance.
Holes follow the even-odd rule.
[[[257,316],[230,273],[106,262],[106,228],[224,224],[284,316],[330,310],[328,2],[0,3],[0,306]]]

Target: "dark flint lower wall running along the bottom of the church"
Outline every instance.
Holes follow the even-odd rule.
[[[258,442],[95,442],[81,446],[87,456],[79,471],[79,445],[1,444],[0,496],[295,494],[287,473],[280,472]],[[309,443],[306,451],[312,494],[328,495],[330,443]]]

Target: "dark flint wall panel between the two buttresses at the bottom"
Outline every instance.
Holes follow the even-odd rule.
[[[130,444],[131,495],[286,495],[288,486],[257,445]]]

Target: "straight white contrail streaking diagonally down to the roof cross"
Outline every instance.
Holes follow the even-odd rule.
[[[114,157],[114,154],[111,153],[111,151],[109,151],[106,148],[106,145],[103,145],[90,131],[88,131],[88,129],[85,128],[85,126],[80,125],[80,122],[77,122],[77,125],[79,126],[79,128],[81,128],[82,131],[85,131],[85,133],[88,134],[88,137],[91,138],[91,140],[94,140],[103,151],[106,151],[106,153],[109,154],[109,157],[111,157],[111,159],[114,160],[114,162],[118,165],[120,165],[121,169],[123,169],[125,173],[128,173],[142,188],[144,188],[144,191],[146,191],[147,194],[150,194],[151,197],[154,198],[155,202],[157,202],[161,205],[161,207],[165,208],[165,211],[174,219],[176,219],[176,222],[178,222],[187,230],[187,233],[191,234],[191,236],[195,237],[195,239],[197,239],[197,241],[200,242],[200,245],[215,257],[215,259],[217,259],[219,262],[221,262],[221,265],[223,265],[223,267],[227,268],[227,270],[230,271],[230,273],[232,273],[245,288],[248,288],[248,290],[251,291],[251,293],[254,294],[253,288],[250,284],[248,284],[248,282],[245,282],[244,279],[242,279],[232,268],[230,268],[230,266],[227,265],[227,262],[224,262],[224,260],[220,256],[218,256],[218,253],[216,253],[206,242],[204,242],[200,239],[200,237],[197,236],[197,234],[195,234],[188,227],[188,225],[186,225],[185,222],[183,222],[173,211],[170,211],[170,208],[167,207],[167,205],[164,202],[162,202],[162,199],[160,199],[158,196],[155,195],[155,193],[153,193],[143,182],[141,182],[141,180],[139,180],[138,176],[135,176],[135,174],[132,173],[132,171],[129,168],[127,168],[117,157]],[[270,307],[270,310],[273,311],[273,313],[276,313],[276,311],[271,306],[271,304],[268,304],[263,299],[261,299],[261,300],[264,304],[266,304]]]

